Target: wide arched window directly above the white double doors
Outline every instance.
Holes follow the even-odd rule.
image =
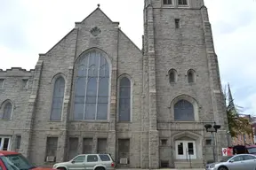
[[[195,114],[193,104],[183,99],[174,104],[174,120],[194,121]]]

